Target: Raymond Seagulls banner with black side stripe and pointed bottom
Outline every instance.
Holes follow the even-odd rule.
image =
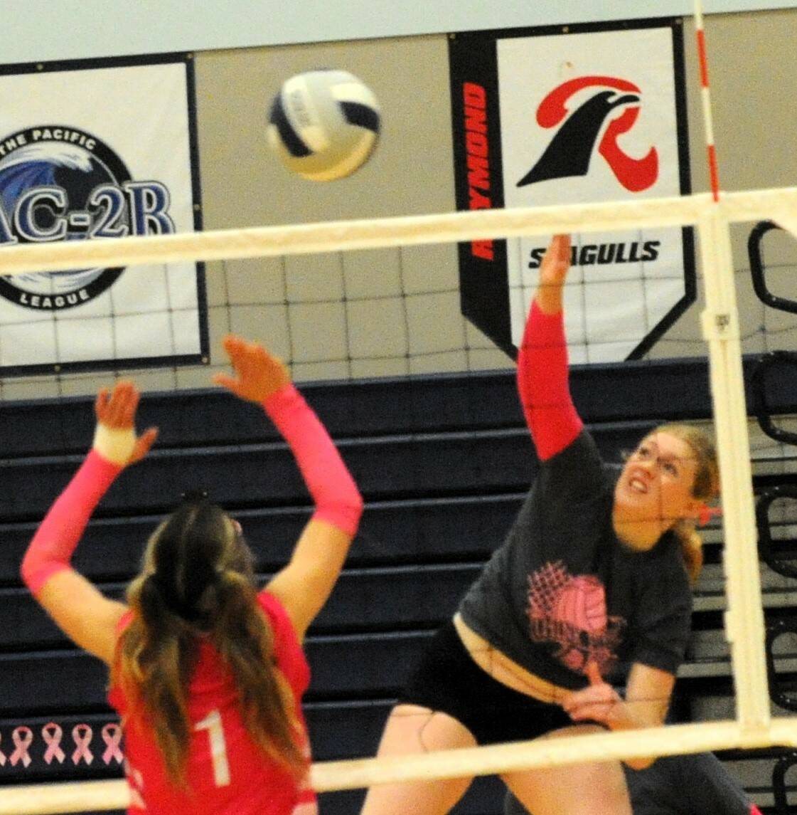
[[[690,192],[680,20],[458,34],[449,57],[459,209]],[[694,301],[691,230],[572,238],[571,361],[641,357]],[[512,356],[549,240],[459,247],[462,313]]]

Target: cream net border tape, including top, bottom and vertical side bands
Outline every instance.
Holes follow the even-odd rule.
[[[213,260],[331,252],[374,247],[607,231],[646,226],[698,229],[706,310],[703,335],[711,360],[712,400],[720,455],[728,610],[737,719],[672,725],[633,733],[607,733],[536,742],[439,751],[422,756],[327,762],[313,766],[318,791],[374,784],[456,778],[510,770],[670,755],[734,747],[797,746],[797,718],[769,716],[764,657],[764,613],[755,548],[747,410],[742,381],[738,312],[729,223],[772,219],[797,234],[797,188],[625,203],[508,209],[291,227],[207,231],[141,238],[11,246],[0,252],[0,274],[52,271],[86,265]],[[87,782],[7,788],[4,813],[58,813],[123,808],[124,782]]]

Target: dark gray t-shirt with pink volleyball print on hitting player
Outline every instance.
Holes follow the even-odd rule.
[[[646,553],[611,525],[617,468],[586,430],[541,462],[505,543],[462,599],[462,619],[528,671],[569,689],[589,661],[610,678],[632,663],[672,673],[690,635],[692,595],[680,544]]]

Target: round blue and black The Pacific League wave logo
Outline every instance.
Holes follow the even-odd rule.
[[[169,200],[163,183],[134,181],[120,156],[85,130],[42,125],[0,138],[0,246],[171,233]],[[59,311],[94,299],[123,271],[0,277],[0,296]]]

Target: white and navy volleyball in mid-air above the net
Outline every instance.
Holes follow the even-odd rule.
[[[274,97],[268,139],[291,172],[312,181],[346,178],[374,152],[379,103],[348,71],[300,73]]]

